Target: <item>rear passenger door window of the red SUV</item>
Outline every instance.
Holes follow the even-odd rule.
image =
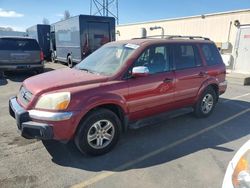
[[[201,59],[195,45],[178,44],[174,48],[176,70],[193,68],[201,65]]]

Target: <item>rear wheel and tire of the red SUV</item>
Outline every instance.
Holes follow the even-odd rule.
[[[208,117],[213,112],[216,102],[216,92],[212,87],[208,87],[194,106],[195,116],[198,118]]]

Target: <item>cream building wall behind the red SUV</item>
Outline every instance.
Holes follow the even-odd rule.
[[[238,32],[238,28],[234,26],[235,20],[239,20],[240,24],[250,24],[250,9],[119,25],[117,31],[120,35],[117,35],[117,40],[141,37],[141,28],[147,30],[147,36],[161,35],[161,29],[150,30],[150,27],[160,26],[164,28],[164,35],[208,37],[217,43],[218,46],[221,43],[230,42],[231,48],[223,51],[223,53],[232,55],[230,67],[233,68],[233,60],[235,59],[234,46]]]

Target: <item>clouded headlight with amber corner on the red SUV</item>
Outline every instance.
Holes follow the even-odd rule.
[[[35,108],[46,110],[65,110],[70,102],[69,92],[46,94],[36,103]]]

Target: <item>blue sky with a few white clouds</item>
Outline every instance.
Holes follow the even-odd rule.
[[[250,0],[119,0],[119,24],[239,9],[250,9]],[[0,0],[0,27],[25,31],[43,18],[59,21],[65,10],[90,14],[90,0]]]

